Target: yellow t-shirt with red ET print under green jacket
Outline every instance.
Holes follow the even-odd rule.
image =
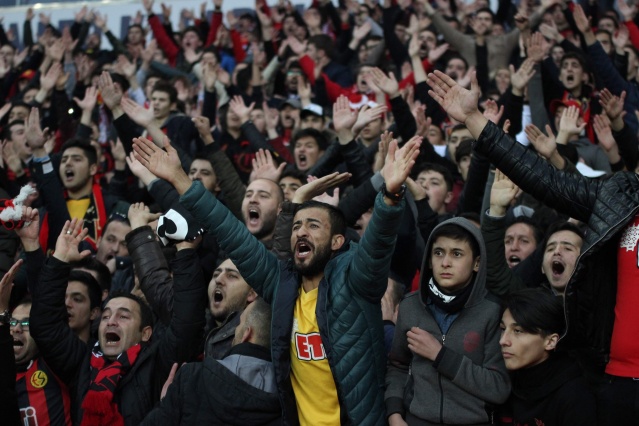
[[[300,424],[339,425],[340,411],[333,373],[315,317],[317,289],[300,287],[291,332],[291,381]]]

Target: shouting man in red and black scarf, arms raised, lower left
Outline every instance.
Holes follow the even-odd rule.
[[[98,342],[88,345],[71,331],[64,306],[70,263],[90,254],[78,249],[87,232],[81,221],[65,223],[33,295],[30,331],[51,371],[71,384],[74,424],[138,425],[159,401],[173,364],[199,352],[206,305],[202,271],[194,244],[179,243],[172,263],[173,315],[165,334],[151,340],[151,308],[133,294],[119,293],[102,311]]]

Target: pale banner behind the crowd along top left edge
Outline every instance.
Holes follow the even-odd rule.
[[[177,31],[178,28],[180,11],[182,9],[193,10],[195,16],[199,17],[200,5],[202,4],[202,2],[203,0],[174,0],[171,2],[167,0],[166,3],[168,3],[173,8],[171,14],[171,22],[173,24],[174,30]],[[157,14],[162,13],[160,3],[160,0],[156,1],[153,8],[154,12]],[[255,0],[227,0],[225,3],[226,4],[224,4],[223,6],[224,13],[226,13],[227,10],[255,10]],[[267,3],[274,5],[276,2],[268,1]],[[295,2],[295,4],[298,3],[309,5],[310,0]],[[62,29],[65,26],[71,26],[73,24],[75,14],[85,4],[89,8],[95,9],[101,15],[106,15],[108,28],[119,38],[124,38],[124,36],[126,35],[126,29],[128,28],[130,21],[135,17],[138,11],[141,11],[142,14],[145,15],[142,26],[148,26],[144,7],[142,6],[142,2],[139,0],[106,0],[90,3],[37,3],[31,6],[0,7],[0,16],[2,16],[3,18],[3,25],[5,30],[10,29],[14,34],[17,35],[14,44],[22,46],[22,27],[24,24],[24,17],[29,7],[33,8],[36,15],[36,17],[31,21],[31,26],[34,38],[37,38],[38,34],[40,34],[42,31],[42,25],[38,22],[38,14],[44,13],[50,15],[51,24],[56,28]],[[213,11],[213,2],[206,1],[206,4],[207,14],[210,18],[210,14]],[[95,31],[96,29],[95,27],[93,27],[89,33]],[[102,46],[103,48],[108,48],[107,46],[109,46],[108,41],[105,37],[102,38]]]

